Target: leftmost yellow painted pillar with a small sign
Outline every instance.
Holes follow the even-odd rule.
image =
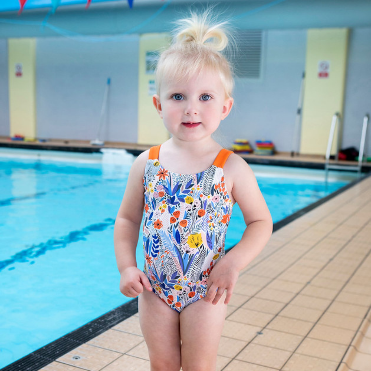
[[[36,39],[8,39],[10,135],[36,138]]]

